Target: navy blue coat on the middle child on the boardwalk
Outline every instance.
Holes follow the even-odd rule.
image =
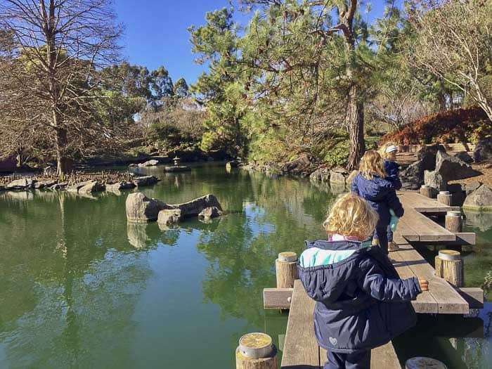
[[[380,216],[376,228],[387,228],[391,214],[389,209],[393,209],[396,216],[403,216],[403,207],[396,196],[393,183],[374,176],[369,180],[364,178],[360,173],[352,181],[351,192],[367,200],[373,209]]]

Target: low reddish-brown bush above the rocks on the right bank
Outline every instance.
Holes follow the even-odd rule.
[[[476,106],[447,110],[428,115],[406,125],[400,131],[386,134],[381,143],[393,141],[400,145],[428,143],[477,143],[492,136],[492,123],[484,110]]]

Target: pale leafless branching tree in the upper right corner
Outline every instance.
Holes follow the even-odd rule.
[[[415,45],[410,60],[469,94],[492,120],[484,76],[492,65],[491,0],[414,0],[410,21]]]

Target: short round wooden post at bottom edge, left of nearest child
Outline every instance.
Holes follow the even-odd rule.
[[[269,335],[247,333],[235,349],[236,369],[277,369],[277,349]]]

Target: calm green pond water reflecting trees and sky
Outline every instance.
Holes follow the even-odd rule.
[[[0,368],[234,368],[239,337],[254,331],[282,354],[287,314],[264,311],[262,290],[275,286],[279,252],[325,237],[335,195],[223,163],[146,171],[162,178],[148,196],[214,193],[226,215],[165,229],[127,225],[131,191],[0,193]],[[478,245],[465,251],[465,278],[480,286],[492,274],[492,214],[467,214],[467,229]],[[491,304],[466,319],[422,317],[396,351],[492,368],[491,318]]]

